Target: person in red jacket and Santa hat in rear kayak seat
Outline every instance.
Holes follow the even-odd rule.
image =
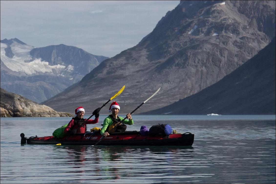
[[[100,108],[97,108],[93,114],[95,114],[95,119],[83,119],[84,115],[84,108],[83,107],[78,107],[75,109],[75,116],[72,118],[72,120],[68,123],[67,127],[64,130],[65,134],[68,135],[74,135],[76,133],[85,133],[86,132],[86,124],[95,124],[99,121],[99,111]],[[87,121],[86,121],[87,120]],[[84,123],[86,121],[86,123]],[[83,126],[81,126],[83,124]],[[81,126],[81,127],[79,127]]]

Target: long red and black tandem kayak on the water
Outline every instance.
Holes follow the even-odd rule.
[[[135,146],[192,146],[194,134],[186,132],[184,134],[169,134],[162,136],[142,136],[137,131],[126,131],[111,133],[103,138],[99,132],[87,132],[85,134],[76,134],[65,136],[64,138],[54,138],[54,136],[46,137],[29,137],[26,138],[20,134],[21,144],[58,144],[62,145],[135,145]]]

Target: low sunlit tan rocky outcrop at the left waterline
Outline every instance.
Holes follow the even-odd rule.
[[[1,117],[67,117],[73,114],[57,112],[46,105],[39,105],[21,95],[1,90]]]

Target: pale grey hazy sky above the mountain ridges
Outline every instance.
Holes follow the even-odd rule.
[[[177,1],[2,1],[0,36],[113,57],[139,43]]]

